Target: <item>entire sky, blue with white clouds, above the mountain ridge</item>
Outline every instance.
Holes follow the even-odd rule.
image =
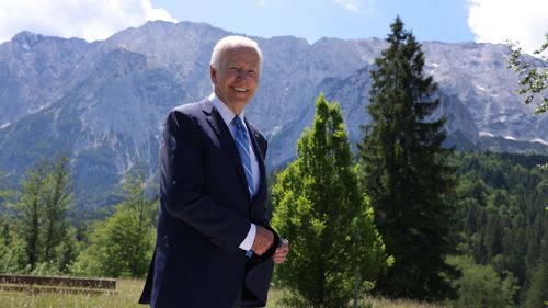
[[[540,47],[548,0],[0,0],[0,44],[21,31],[87,41],[150,20],[206,22],[252,36],[386,37],[399,15],[420,41]]]

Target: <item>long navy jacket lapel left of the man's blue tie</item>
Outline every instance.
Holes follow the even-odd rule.
[[[209,126],[212,126],[215,134],[217,134],[220,144],[230,155],[230,158],[235,163],[236,170],[238,170],[240,180],[242,181],[242,184],[244,185],[247,191],[248,181],[246,180],[246,173],[243,173],[243,166],[241,163],[240,155],[238,153],[238,149],[236,148],[230,130],[228,130],[225,121],[220,116],[219,112],[216,109],[214,109],[213,103],[209,100],[206,99],[199,103],[202,105],[202,110],[206,114],[207,123],[209,123]]]

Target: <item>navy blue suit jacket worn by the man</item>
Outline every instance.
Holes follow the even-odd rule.
[[[209,100],[175,107],[160,147],[157,242],[139,303],[151,307],[262,307],[272,277],[270,256],[248,259],[239,244],[265,215],[266,140],[250,123],[261,172],[249,196],[233,138]],[[274,232],[275,233],[275,232]]]

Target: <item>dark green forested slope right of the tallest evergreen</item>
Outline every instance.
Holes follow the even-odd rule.
[[[522,290],[514,304],[546,298],[547,276],[539,273],[546,260],[541,255],[548,233],[548,171],[536,166],[548,162],[548,157],[465,153],[456,161],[460,251],[492,266],[500,280],[511,273]]]

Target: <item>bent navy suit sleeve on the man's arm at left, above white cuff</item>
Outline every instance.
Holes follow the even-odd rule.
[[[160,148],[165,208],[229,253],[239,250],[250,221],[203,193],[201,129],[183,112],[172,111]]]

